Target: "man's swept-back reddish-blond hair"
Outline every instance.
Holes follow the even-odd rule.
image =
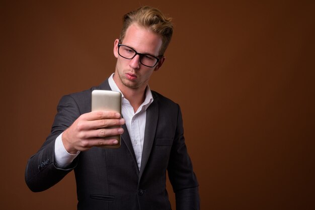
[[[163,56],[173,35],[173,23],[160,10],[148,6],[140,7],[123,16],[123,26],[120,32],[120,41],[125,38],[128,27],[136,23],[139,26],[149,28],[153,33],[162,37],[162,46],[159,56]]]

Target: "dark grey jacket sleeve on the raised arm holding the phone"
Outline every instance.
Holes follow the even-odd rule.
[[[34,192],[53,186],[77,164],[78,157],[67,168],[58,167],[54,162],[54,145],[56,138],[81,115],[80,111],[70,95],[60,99],[57,111],[50,135],[26,166],[25,181]]]

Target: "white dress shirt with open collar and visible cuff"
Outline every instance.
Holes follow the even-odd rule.
[[[109,77],[109,86],[113,91],[120,91],[113,79],[114,73]],[[122,94],[122,93],[121,93]],[[122,117],[125,119],[126,127],[130,136],[132,147],[136,156],[138,168],[141,167],[141,157],[144,141],[144,129],[146,121],[146,109],[150,106],[153,101],[152,93],[147,85],[145,89],[145,99],[141,106],[136,112],[133,111],[133,107],[130,102],[122,94],[122,104],[121,113]],[[63,168],[68,166],[74,158],[80,153],[78,151],[76,154],[68,153],[62,144],[62,134],[60,134],[55,141],[55,162],[56,164]]]

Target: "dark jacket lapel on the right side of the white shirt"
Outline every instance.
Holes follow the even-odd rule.
[[[150,156],[158,119],[159,119],[159,104],[157,103],[157,98],[154,98],[153,102],[150,104],[150,106],[146,110],[144,142],[143,142],[139,179],[142,176],[142,173],[145,169],[146,163]]]

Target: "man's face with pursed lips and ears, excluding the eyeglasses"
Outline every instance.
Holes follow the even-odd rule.
[[[165,58],[161,58],[154,67],[147,67],[140,63],[139,55],[128,60],[118,54],[119,40],[114,42],[114,55],[117,58],[114,81],[123,91],[126,88],[144,90],[153,71],[159,69]],[[162,38],[145,29],[132,24],[126,31],[123,45],[129,46],[138,53],[159,56],[159,50],[162,45]]]

